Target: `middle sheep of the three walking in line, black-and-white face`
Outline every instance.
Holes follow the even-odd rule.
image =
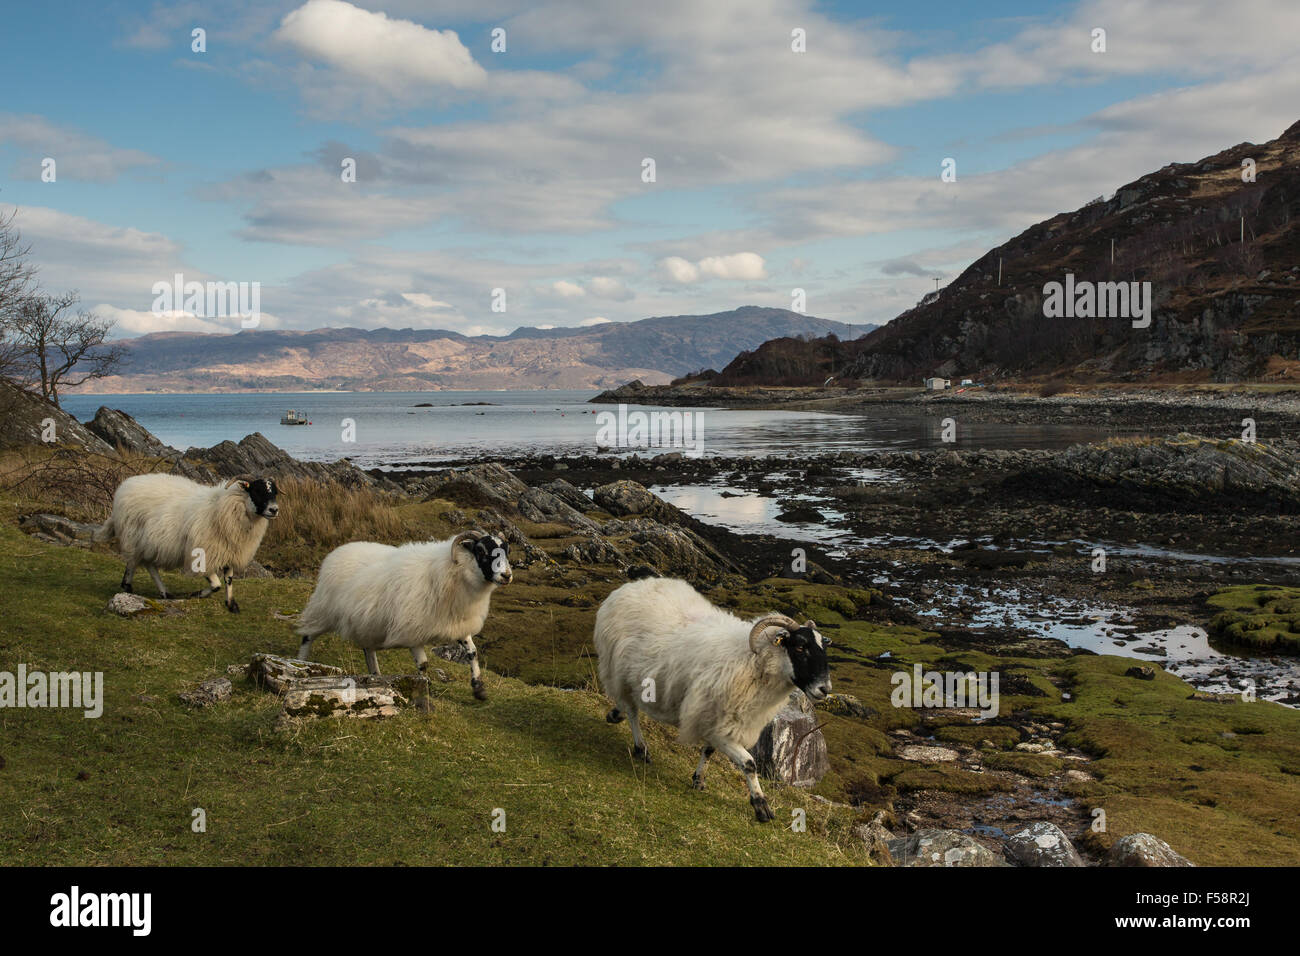
[[[365,652],[370,674],[380,672],[374,652],[389,648],[408,648],[424,674],[429,663],[424,645],[450,639],[469,658],[474,697],[488,700],[474,635],[482,630],[493,591],[514,578],[508,549],[504,540],[481,531],[399,548],[373,541],[335,548],[321,562],[299,619],[298,659],[308,659],[320,635],[335,631]]]

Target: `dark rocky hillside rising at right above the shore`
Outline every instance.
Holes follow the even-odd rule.
[[[1245,160],[1254,182],[1243,182]],[[1066,273],[1150,282],[1150,326],[1045,317],[1044,285],[1063,284]],[[1264,144],[1170,164],[1031,226],[868,336],[767,342],[714,381],[814,384],[831,368],[841,380],[907,384],[930,375],[1300,381],[1300,122]]]

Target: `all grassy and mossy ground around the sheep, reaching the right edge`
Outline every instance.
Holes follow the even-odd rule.
[[[996,797],[1008,777],[988,771],[1014,771],[1078,800],[1080,818],[1105,809],[1106,832],[1088,838],[1095,851],[1148,831],[1202,865],[1300,864],[1300,713],[1192,698],[1158,670],[1149,682],[1126,676],[1126,658],[892,626],[878,614],[881,596],[866,589],[771,579],[710,592],[738,613],[816,619],[836,641],[836,691],[868,708],[820,718],[831,773],[814,793],[853,806],[771,787],[777,825],[753,821],[741,778],[716,758],[710,790],[690,790],[696,753],[676,747],[671,728],[647,723],[655,763],[646,767],[630,758],[627,726],[604,722],[590,633],[595,606],[621,581],[612,567],[517,568],[480,641],[486,702],[471,697],[465,669],[442,665],[451,682],[436,684],[429,715],[277,730],[276,698],[240,679],[231,701],[187,709],[177,695],[195,682],[256,652],[295,650],[291,622],[277,615],[303,606],[309,570],[351,528],[420,537],[465,519],[445,501],[306,502],[285,501],[260,555],[282,576],[237,584],[243,614],[213,598],[127,620],[104,611],[116,558],[23,536],[14,518],[38,503],[0,497],[0,670],[103,671],[107,697],[99,719],[0,710],[0,861],[861,864],[852,826],[876,809],[920,795]],[[575,540],[558,525],[519,527],[552,558]],[[360,652],[337,637],[318,641],[316,657],[361,667]],[[382,661],[386,672],[413,670],[406,652]],[[1000,672],[1000,715],[972,723],[892,706],[890,676],[915,662]],[[1080,765],[1015,749],[1040,722],[1091,757],[1087,779],[1063,777]],[[900,758],[900,728],[913,743],[974,748],[984,771]],[[205,834],[191,832],[194,808],[207,810]],[[490,829],[497,808],[504,834]],[[807,812],[807,832],[790,829],[794,809]]]

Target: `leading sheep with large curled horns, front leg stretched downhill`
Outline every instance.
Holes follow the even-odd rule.
[[[614,701],[606,715],[632,727],[633,756],[650,762],[638,714],[679,728],[679,740],[703,749],[692,783],[705,788],[705,767],[722,750],[745,777],[760,823],[772,810],[758,783],[753,747],[763,727],[798,687],[812,700],[831,692],[831,641],[806,620],[783,614],[742,620],[670,578],[642,578],[618,588],[595,614],[597,670]]]

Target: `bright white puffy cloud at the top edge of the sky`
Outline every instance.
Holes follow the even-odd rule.
[[[343,0],[307,0],[281,21],[274,39],[393,95],[472,87],[486,78],[454,30],[390,20]]]

